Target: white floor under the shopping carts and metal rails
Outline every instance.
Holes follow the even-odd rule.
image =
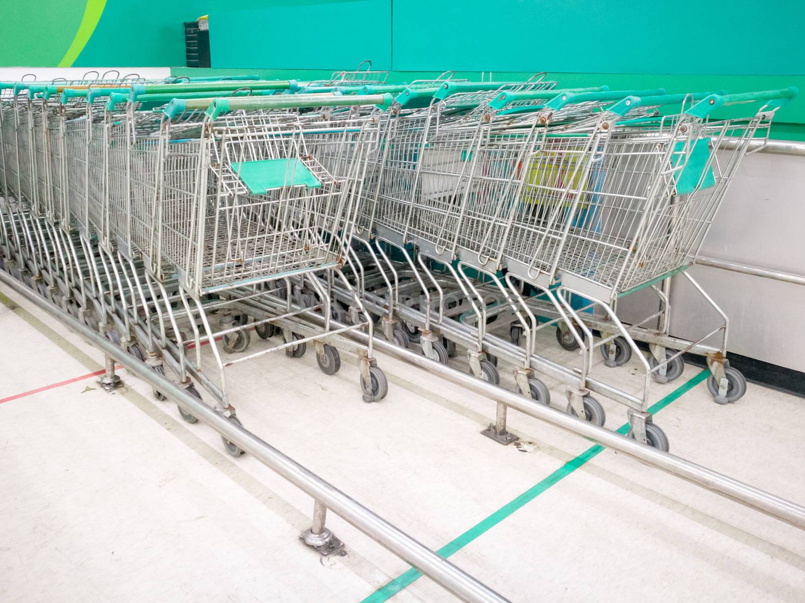
[[[96,349],[5,292],[0,401],[101,368]],[[362,403],[342,358],[332,377],[312,352],[233,367],[238,416],[431,548],[590,447],[516,412],[510,429],[525,444],[502,447],[479,435],[493,403],[388,357],[388,398]],[[637,390],[631,369],[597,370]],[[85,378],[0,403],[0,601],[358,603],[407,570],[333,516],[348,554],[320,560],[298,540],[307,495],[250,456],[226,456],[209,427],[120,374],[127,388],[114,394]],[[624,423],[623,407],[602,402],[607,427]],[[720,407],[702,383],[656,420],[675,454],[805,502],[802,399],[750,385]],[[805,600],[802,531],[609,451],[451,560],[511,601]],[[427,578],[392,598],[453,600]]]

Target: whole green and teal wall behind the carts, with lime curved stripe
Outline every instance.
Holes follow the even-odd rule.
[[[5,0],[0,66],[183,65],[182,23],[201,14],[219,73],[310,80],[369,59],[390,81],[544,70],[563,86],[805,93],[799,0]],[[776,121],[775,138],[805,140],[805,100]]]

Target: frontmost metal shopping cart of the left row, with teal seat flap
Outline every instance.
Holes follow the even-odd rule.
[[[357,328],[371,333],[371,324],[331,328],[331,296],[315,275],[332,273],[343,279],[344,250],[366,156],[377,143],[378,120],[359,111],[334,111],[328,117],[299,109],[389,101],[382,95],[219,98],[200,123],[178,120],[207,101],[171,101],[165,109],[156,150],[148,151],[156,153],[158,203],[133,211],[135,217],[150,217],[149,225],[143,224],[150,232],[142,231],[138,246],[152,270],[164,275],[169,266],[175,271],[185,312],[197,317],[204,331],[202,335],[191,321],[197,362],[202,361],[201,344],[208,341],[225,407],[225,367],[279,349],[299,357],[312,341],[320,367],[332,373],[340,360],[328,341]],[[333,163],[332,156],[338,161]],[[138,202],[134,196],[133,203]],[[308,312],[292,307],[291,278],[304,279],[320,299],[324,327],[307,337],[289,326]],[[284,308],[274,295],[277,281],[284,283]],[[357,296],[355,304],[360,306]],[[213,313],[219,330],[213,329]],[[250,330],[236,324],[242,313],[254,316],[250,327],[258,335],[269,337],[271,326],[281,323],[283,344],[224,361],[218,338],[227,352],[243,352],[250,345]],[[359,354],[367,401],[382,399],[387,390],[371,353],[369,344]]]

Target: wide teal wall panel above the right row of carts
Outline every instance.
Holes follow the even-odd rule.
[[[801,0],[394,0],[394,69],[803,74]]]

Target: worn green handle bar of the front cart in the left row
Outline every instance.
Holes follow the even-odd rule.
[[[257,110],[257,109],[303,109],[308,107],[346,107],[355,105],[376,105],[378,107],[390,106],[393,101],[390,94],[368,94],[359,96],[344,96],[312,94],[309,96],[270,96],[270,97],[239,97],[215,98],[212,103],[207,99],[173,99],[163,113],[168,119],[184,111],[207,109],[207,117],[216,119],[225,111]]]

